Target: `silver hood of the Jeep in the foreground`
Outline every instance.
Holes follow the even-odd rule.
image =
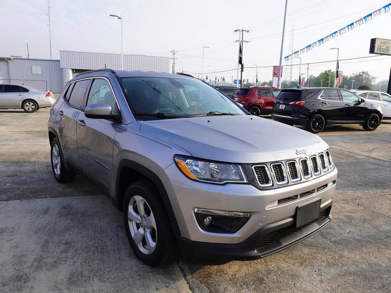
[[[317,135],[251,115],[143,122],[141,132],[179,146],[197,158],[261,163],[302,157],[328,146]]]

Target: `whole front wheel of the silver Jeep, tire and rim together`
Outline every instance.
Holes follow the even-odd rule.
[[[149,180],[129,186],[123,213],[130,246],[141,261],[156,267],[177,258],[178,249],[166,209]]]

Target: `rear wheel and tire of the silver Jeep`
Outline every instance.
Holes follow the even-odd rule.
[[[63,153],[57,138],[54,138],[50,145],[50,161],[52,163],[52,172],[54,178],[56,178],[58,182],[67,183],[75,179],[76,174],[69,172],[69,170],[64,165]]]

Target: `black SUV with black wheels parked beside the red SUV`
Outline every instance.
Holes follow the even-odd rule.
[[[361,125],[365,130],[375,130],[383,112],[378,105],[345,89],[302,87],[283,89],[276,98],[272,117],[318,133],[332,125]]]

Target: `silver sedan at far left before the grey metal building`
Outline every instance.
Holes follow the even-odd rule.
[[[39,108],[51,107],[56,99],[49,91],[27,85],[0,84],[0,109],[23,109],[32,113]]]

